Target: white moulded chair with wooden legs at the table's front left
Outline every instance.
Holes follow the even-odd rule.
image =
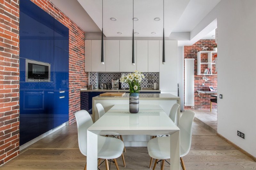
[[[78,146],[80,152],[87,156],[87,129],[92,126],[92,118],[86,110],[80,110],[75,113],[77,134],[78,134]],[[113,137],[103,137],[98,135],[98,158],[100,165],[100,159],[105,160],[106,169],[108,170],[108,159],[113,159],[116,168],[119,170],[116,158],[123,154],[124,143]],[[86,163],[84,166],[86,170]]]

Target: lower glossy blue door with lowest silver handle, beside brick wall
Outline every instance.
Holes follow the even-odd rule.
[[[54,118],[53,127],[68,121],[68,92],[54,94]]]

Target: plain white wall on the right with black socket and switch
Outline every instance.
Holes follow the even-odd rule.
[[[218,133],[256,157],[256,1],[222,0],[218,20]],[[236,135],[245,133],[245,139]]]

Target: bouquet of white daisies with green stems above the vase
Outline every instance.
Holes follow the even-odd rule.
[[[142,78],[145,78],[141,72],[135,70],[133,73],[129,73],[126,76],[120,78],[121,83],[128,83],[130,93],[138,93],[140,91],[140,84]]]

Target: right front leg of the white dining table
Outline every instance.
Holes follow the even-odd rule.
[[[180,169],[180,130],[171,134],[170,137],[171,170]]]

